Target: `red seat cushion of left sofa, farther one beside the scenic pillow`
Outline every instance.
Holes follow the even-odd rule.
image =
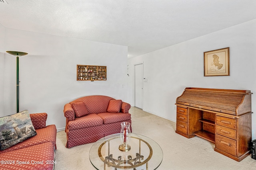
[[[38,145],[41,143],[47,143],[47,142],[51,142],[53,146],[56,145],[57,129],[56,129],[55,125],[48,125],[45,128],[36,129],[36,133],[37,133],[36,136],[31,137],[21,143],[18,143],[8,149],[2,150],[2,151],[0,151],[0,154],[2,154],[4,152],[10,152],[12,150],[31,147],[31,146]]]

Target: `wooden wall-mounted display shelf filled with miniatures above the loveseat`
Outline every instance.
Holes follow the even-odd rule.
[[[77,65],[76,67],[78,81],[107,80],[107,66]]]

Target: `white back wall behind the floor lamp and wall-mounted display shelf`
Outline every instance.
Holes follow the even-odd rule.
[[[126,102],[126,46],[8,28],[5,37],[5,51],[29,53],[20,58],[20,111],[46,112],[47,124],[60,129],[66,124],[64,105],[76,98],[98,94]],[[107,80],[77,81],[77,64],[107,66]],[[16,57],[6,53],[4,66],[4,115],[9,115],[16,113]]]

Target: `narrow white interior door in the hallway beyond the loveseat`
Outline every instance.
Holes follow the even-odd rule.
[[[142,92],[143,92],[143,64],[135,65],[135,107],[142,109]]]

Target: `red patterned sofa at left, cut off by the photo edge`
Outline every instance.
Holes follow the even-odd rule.
[[[52,170],[55,162],[56,126],[46,126],[47,113],[30,118],[36,135],[0,151],[0,170]]]

